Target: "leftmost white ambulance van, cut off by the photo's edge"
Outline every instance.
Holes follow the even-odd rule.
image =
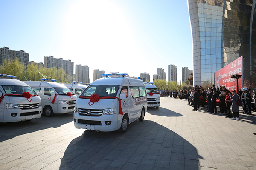
[[[29,121],[42,115],[41,99],[16,76],[0,74],[0,122]]]

